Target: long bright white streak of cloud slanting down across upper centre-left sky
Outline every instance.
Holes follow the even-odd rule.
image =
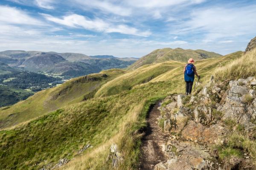
[[[42,15],[49,21],[75,28],[85,28],[106,33],[117,32],[121,34],[130,34],[143,37],[148,37],[151,34],[150,31],[141,32],[137,28],[129,27],[126,25],[112,25],[111,23],[107,23],[99,18],[90,20],[89,18],[78,14],[70,14],[62,18],[53,17],[49,14]]]

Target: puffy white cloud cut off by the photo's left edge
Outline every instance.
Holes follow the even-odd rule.
[[[0,6],[0,22],[23,25],[41,25],[41,21],[26,12],[9,6]]]

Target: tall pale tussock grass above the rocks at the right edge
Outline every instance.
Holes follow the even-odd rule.
[[[256,75],[256,49],[243,54],[230,64],[218,68],[215,76],[219,80],[247,78]]]

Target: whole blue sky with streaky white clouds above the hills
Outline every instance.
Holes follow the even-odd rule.
[[[244,51],[255,0],[1,0],[0,51],[142,57],[157,48]]]

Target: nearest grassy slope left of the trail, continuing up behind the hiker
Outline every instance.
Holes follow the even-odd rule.
[[[195,65],[198,72],[204,75],[202,81],[205,81],[218,66],[226,65],[240,56],[241,52],[237,52],[205,59]],[[64,157],[75,158],[61,167],[65,170],[113,169],[111,160],[106,161],[112,143],[118,144],[124,158],[118,169],[136,169],[141,138],[138,130],[146,125],[146,112],[156,100],[183,91],[182,69],[181,64],[149,82],[131,85],[131,90],[116,95],[109,93],[105,97],[95,95],[28,124],[0,131],[0,169],[39,169]],[[176,74],[172,75],[171,72]],[[77,151],[87,143],[93,147],[76,156]]]

